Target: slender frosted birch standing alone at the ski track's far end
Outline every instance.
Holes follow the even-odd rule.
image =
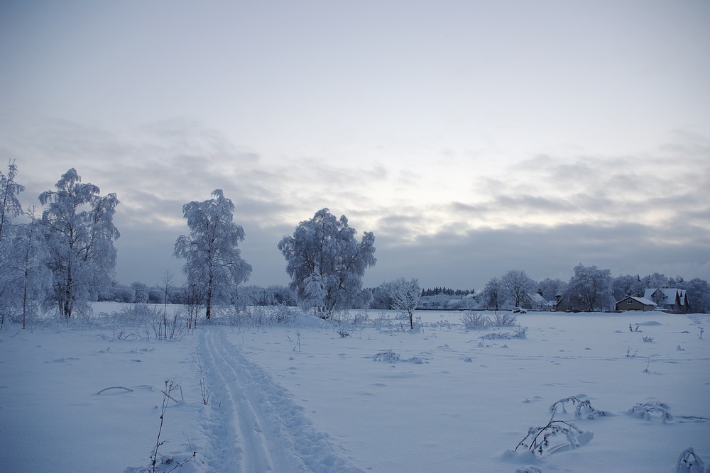
[[[182,272],[188,286],[200,294],[197,299],[204,301],[208,321],[214,306],[229,304],[236,286],[251,275],[251,265],[238,247],[245,235],[233,221],[234,204],[222,189],[215,189],[212,197],[182,206],[190,235],[180,235],[173,252],[173,257],[185,258]]]

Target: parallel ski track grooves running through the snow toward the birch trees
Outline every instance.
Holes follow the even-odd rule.
[[[290,393],[229,342],[221,328],[200,335],[210,390],[204,433],[215,472],[361,472],[338,457]]]

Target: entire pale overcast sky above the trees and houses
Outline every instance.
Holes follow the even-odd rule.
[[[0,2],[0,158],[23,203],[115,192],[119,282],[180,274],[182,205],[234,201],[251,284],[327,207],[365,282],[710,280],[710,2]],[[3,167],[6,172],[6,167]]]

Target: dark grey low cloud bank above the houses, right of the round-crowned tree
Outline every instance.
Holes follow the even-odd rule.
[[[661,272],[709,279],[710,243],[701,235],[703,230],[691,228],[660,239],[655,229],[638,223],[575,223],[479,228],[464,235],[449,230],[413,242],[388,236],[378,238],[378,265],[366,278],[372,285],[407,276],[417,277],[422,286],[480,290],[508,269],[567,281],[581,262],[614,275]]]

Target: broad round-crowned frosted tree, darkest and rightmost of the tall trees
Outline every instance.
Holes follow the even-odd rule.
[[[348,219],[335,218],[327,208],[298,224],[293,236],[285,236],[278,249],[286,259],[290,289],[300,301],[310,299],[312,284],[323,284],[324,296],[318,307],[323,318],[333,311],[349,308],[362,291],[365,270],[375,265],[375,236],[364,232],[358,242]]]

